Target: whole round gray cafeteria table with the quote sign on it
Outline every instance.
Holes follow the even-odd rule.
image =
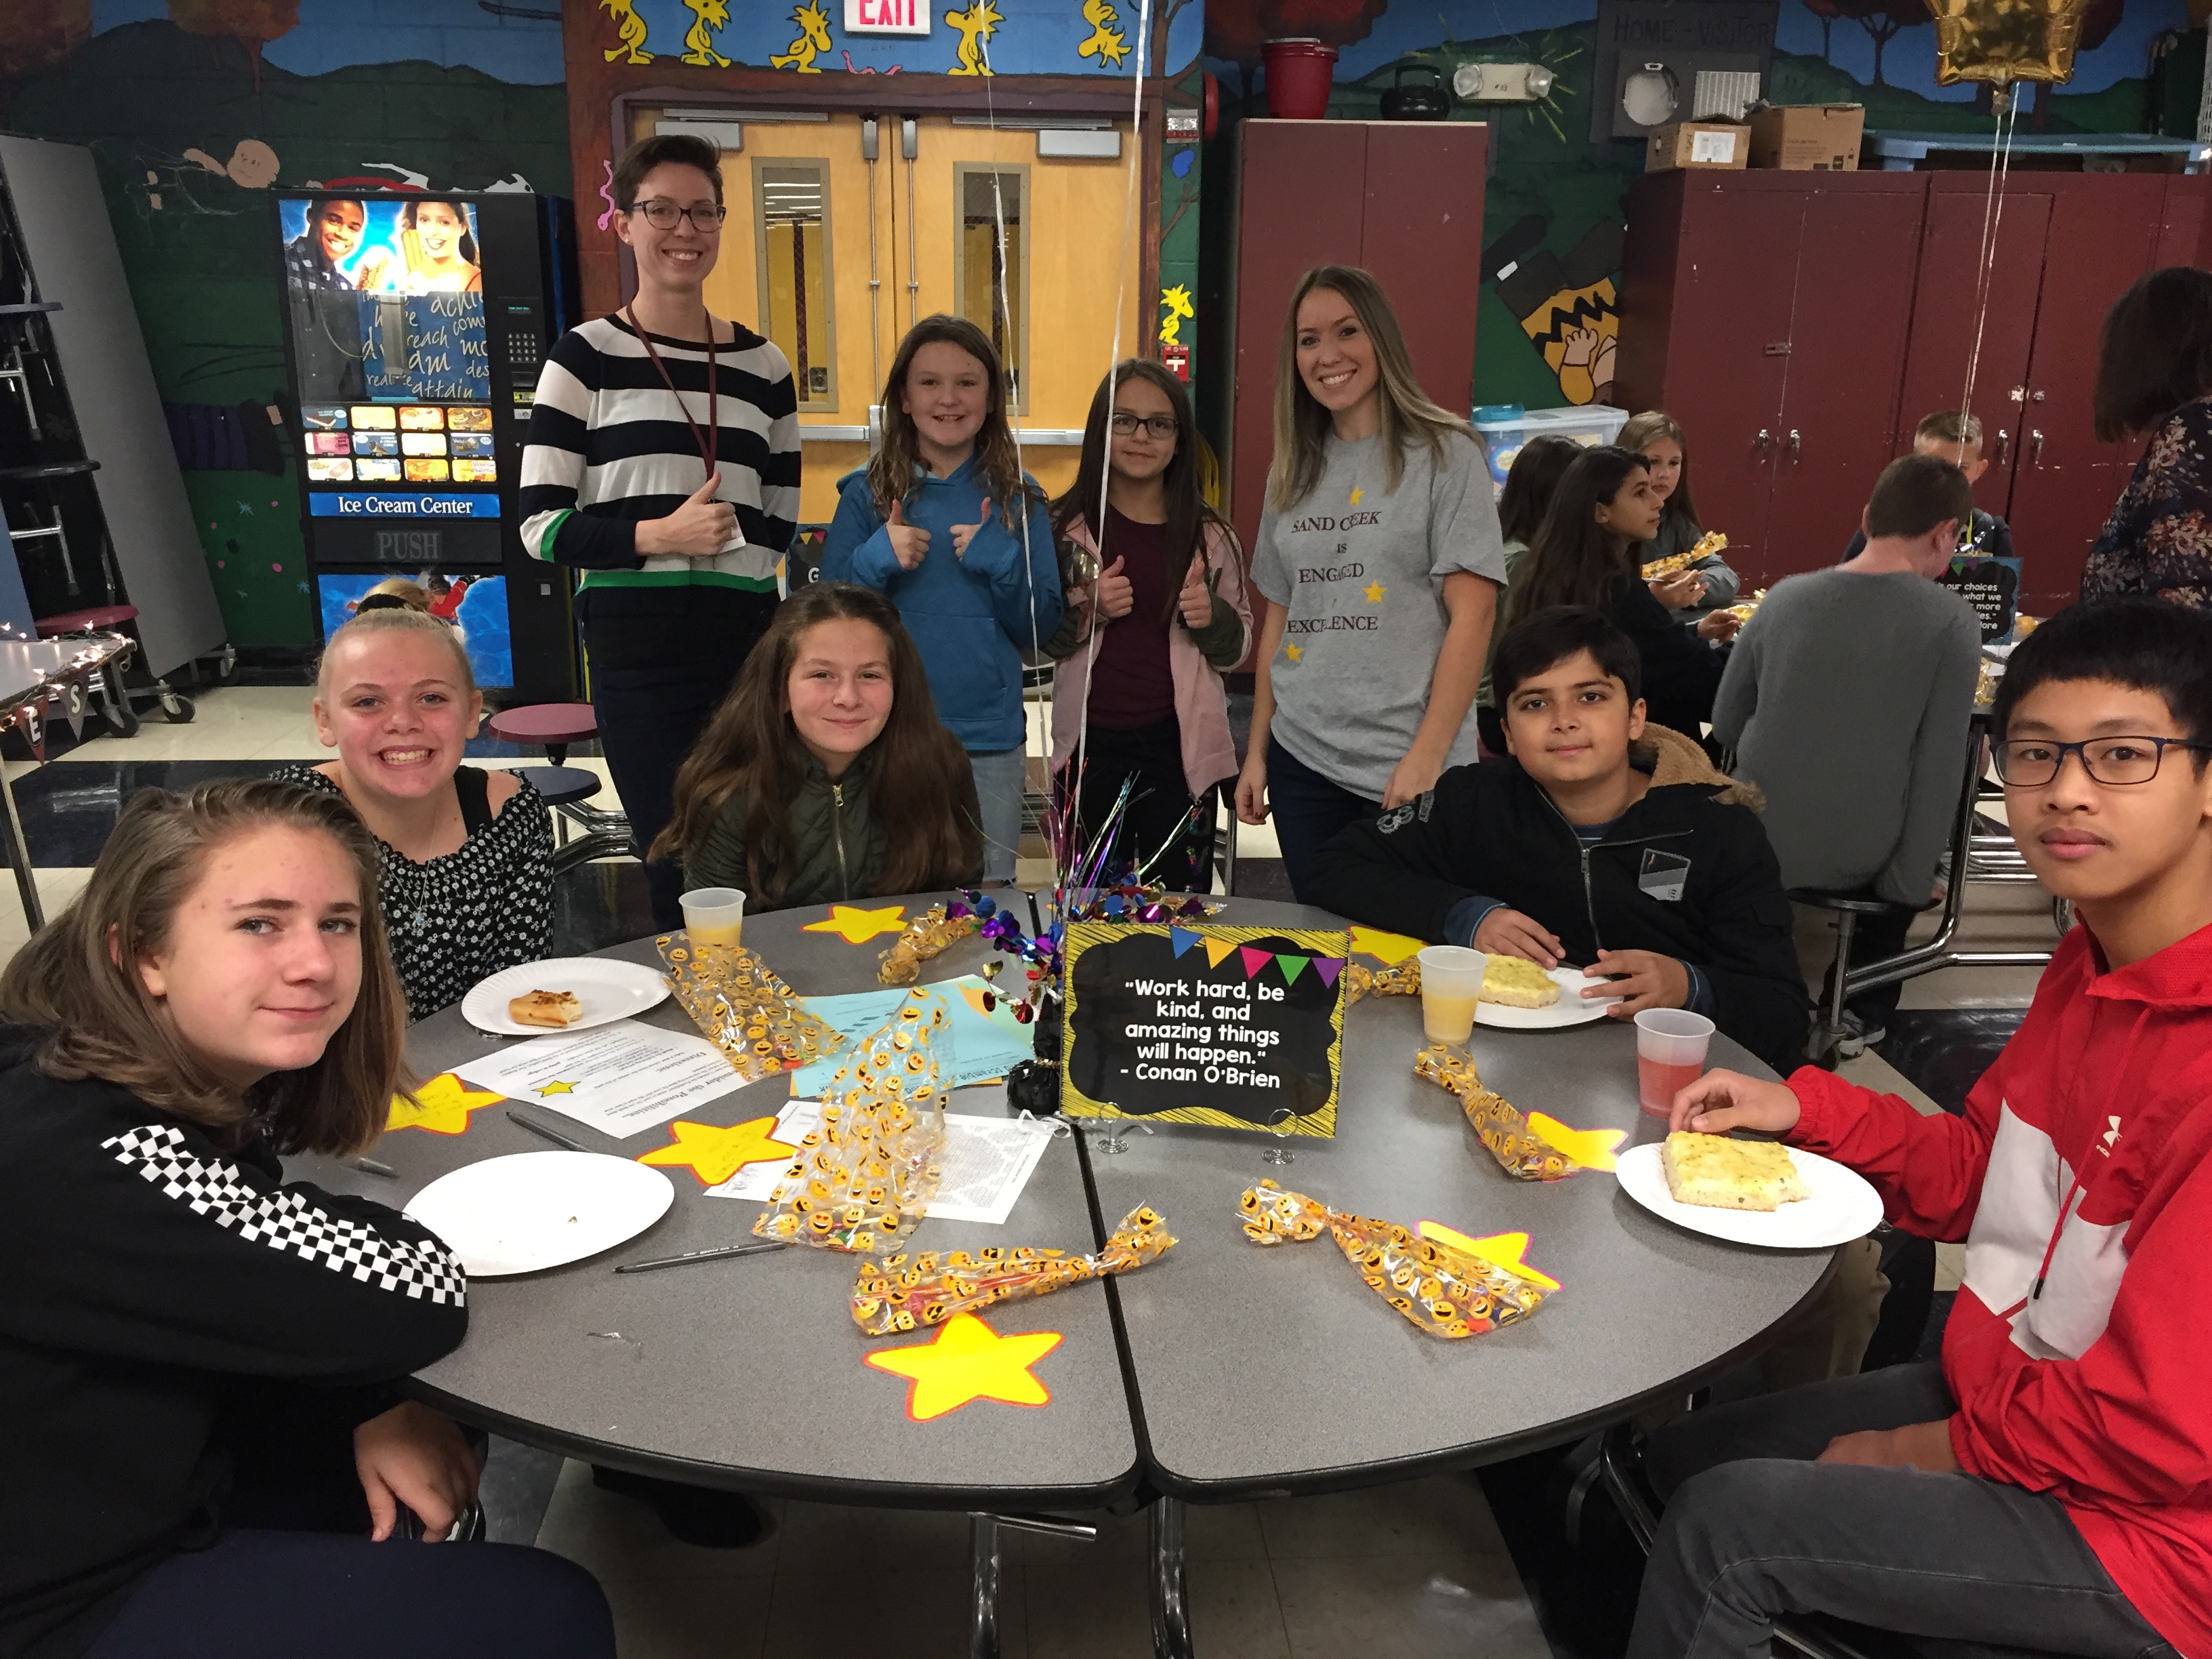
[[[933,900],[902,902],[914,916]],[[801,931],[821,916],[750,916],[745,945],[801,993],[874,989],[889,938],[856,947]],[[1228,900],[1212,920],[1336,925],[1325,911],[1261,900]],[[650,938],[606,956],[657,960]],[[980,940],[962,940],[922,978],[973,973],[987,960]],[[690,1029],[675,1002],[644,1018]],[[465,1071],[498,1042],[456,1006],[414,1026],[409,1057],[425,1075]],[[422,1371],[416,1391],[465,1422],[648,1475],[838,1504],[964,1509],[978,1657],[998,1650],[1002,1524],[1055,1528],[1068,1524],[1024,1511],[1150,1500],[1155,1650],[1181,1659],[1190,1655],[1183,1504],[1383,1484],[1579,1438],[1756,1354],[1834,1272],[1832,1250],[1745,1250],[1672,1228],[1597,1170],[1555,1183],[1509,1179],[1458,1099],[1413,1077],[1420,1046],[1416,998],[1347,1009],[1336,1137],[1290,1139],[1287,1166],[1261,1161],[1274,1144],[1263,1133],[1161,1124],[1144,1135],[1088,1121],[1044,1150],[1006,1225],[925,1221],[911,1248],[1079,1250],[1137,1203],[1166,1217],[1179,1243],[1159,1261],[991,1310],[1002,1334],[1064,1332],[1035,1365],[1053,1396],[1046,1409],[984,1402],[909,1422],[905,1385],[863,1365],[869,1349],[909,1338],[858,1334],[847,1314],[849,1256],[790,1250],[615,1276],[619,1261],[750,1237],[761,1206],[708,1197],[684,1168],[670,1170],[675,1208],[619,1250],[471,1283],[469,1338]],[[1632,1141],[1659,1135],[1637,1110],[1635,1035],[1619,1022],[1478,1026],[1471,1051],[1484,1082],[1524,1110],[1571,1128],[1628,1128]],[[1712,1057],[1772,1075],[1728,1040]],[[768,1079],[688,1117],[737,1124],[785,1097],[787,1084]],[[1011,1110],[995,1084],[962,1088],[951,1106]],[[611,1141],[529,1110],[591,1150],[637,1157],[666,1139],[655,1128]],[[465,1135],[387,1133],[374,1157],[394,1179],[299,1164],[336,1190],[405,1203],[451,1168],[542,1146],[504,1108],[489,1108]],[[1455,1343],[1425,1336],[1360,1283],[1327,1237],[1248,1243],[1237,1199],[1263,1175],[1358,1214],[1526,1232],[1528,1265],[1562,1290],[1504,1329]]]

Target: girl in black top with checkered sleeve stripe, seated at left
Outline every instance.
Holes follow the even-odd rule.
[[[398,1394],[467,1283],[283,1179],[407,1082],[378,860],[330,794],[142,790],[0,978],[0,1652],[613,1659],[582,1568],[396,1535],[476,1495]]]

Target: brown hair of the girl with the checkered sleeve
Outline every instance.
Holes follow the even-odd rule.
[[[208,856],[257,830],[323,834],[352,860],[361,991],[321,1060],[239,1095],[177,1033],[137,962],[168,945]],[[261,1128],[281,1152],[358,1152],[383,1130],[394,1091],[411,1084],[407,998],[392,971],[378,878],[376,841],[336,794],[274,779],[217,779],[190,794],[139,790],[77,900],[7,964],[0,1020],[44,1026],[33,1064],[49,1077],[102,1077],[232,1141]]]

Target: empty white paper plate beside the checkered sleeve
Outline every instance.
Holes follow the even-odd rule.
[[[469,1279],[498,1279],[613,1250],[675,1201],[666,1175],[626,1157],[515,1152],[440,1175],[407,1217],[436,1232]]]

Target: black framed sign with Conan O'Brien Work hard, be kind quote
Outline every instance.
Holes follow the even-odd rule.
[[[1336,1133],[1343,933],[1077,922],[1064,956],[1071,1117]]]

